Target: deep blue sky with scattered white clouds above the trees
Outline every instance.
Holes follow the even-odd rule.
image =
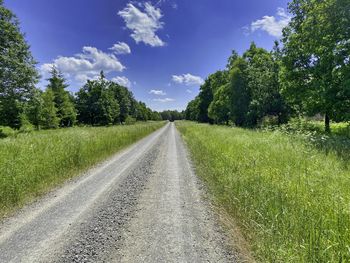
[[[76,92],[100,70],[154,110],[186,107],[231,50],[271,49],[286,0],[5,0],[46,85],[56,65]]]

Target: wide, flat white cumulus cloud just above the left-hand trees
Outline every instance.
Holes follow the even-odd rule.
[[[59,56],[52,63],[41,65],[41,74],[45,77],[56,67],[66,77],[75,79],[78,82],[85,82],[87,79],[96,78],[100,71],[105,73],[121,72],[125,67],[118,58],[111,53],[105,53],[95,47],[83,47],[82,53],[72,57]]]

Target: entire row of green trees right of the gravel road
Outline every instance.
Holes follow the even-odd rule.
[[[350,120],[350,1],[293,0],[291,22],[272,51],[257,47],[208,76],[188,120],[256,127],[292,116]]]

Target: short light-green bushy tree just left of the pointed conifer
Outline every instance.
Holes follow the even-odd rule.
[[[42,103],[40,126],[44,129],[58,128],[60,120],[57,118],[55,95],[52,89],[48,88],[42,94]]]

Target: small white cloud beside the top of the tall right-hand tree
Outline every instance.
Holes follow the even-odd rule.
[[[278,8],[276,16],[264,16],[252,22],[250,29],[252,32],[263,30],[271,36],[281,37],[282,29],[289,24],[290,20],[291,16],[283,8]]]

